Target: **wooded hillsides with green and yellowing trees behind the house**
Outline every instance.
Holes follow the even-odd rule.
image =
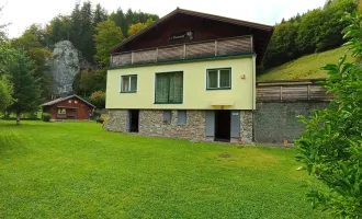
[[[330,0],[323,8],[276,23],[259,73],[341,46],[346,22],[340,18],[357,7],[358,0]],[[49,60],[55,58],[56,44],[63,41],[69,41],[79,51],[71,93],[104,108],[110,48],[158,19],[157,14],[131,9],[118,8],[109,13],[101,4],[77,2],[70,14],[56,15],[46,25],[32,24],[16,38],[7,37],[3,31],[7,24],[0,20],[0,94],[8,96],[0,101],[0,111],[30,112],[34,110],[31,106],[57,97]],[[33,93],[30,106],[20,104],[25,93]]]

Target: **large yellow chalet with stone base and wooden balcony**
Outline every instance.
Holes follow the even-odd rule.
[[[177,9],[111,49],[108,129],[251,143],[273,27]]]

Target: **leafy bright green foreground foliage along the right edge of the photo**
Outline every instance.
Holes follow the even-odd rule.
[[[362,56],[362,18],[353,12],[344,21],[346,44],[353,57]],[[362,218],[362,67],[346,64],[346,55],[337,65],[326,65],[325,82],[336,99],[327,110],[301,117],[306,130],[295,141],[310,175],[326,185],[314,188],[308,197],[336,218]]]

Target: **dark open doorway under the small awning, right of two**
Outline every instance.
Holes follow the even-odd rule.
[[[230,111],[215,111],[215,141],[230,141]]]

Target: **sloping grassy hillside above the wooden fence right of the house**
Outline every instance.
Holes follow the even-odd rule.
[[[348,53],[348,48],[342,47],[320,54],[304,56],[264,72],[259,76],[257,80],[270,81],[327,78],[327,72],[320,70],[320,67],[326,64],[337,64],[339,58],[346,53]],[[349,54],[347,61],[352,62],[353,60],[354,59]]]

